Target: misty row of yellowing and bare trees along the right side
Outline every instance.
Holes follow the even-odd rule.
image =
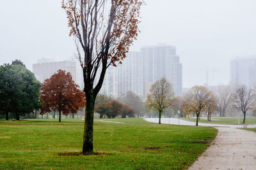
[[[195,86],[183,97],[182,110],[185,117],[189,115],[196,117],[196,125],[202,114],[211,121],[212,114],[216,117],[227,117],[227,110],[229,117],[243,113],[243,124],[245,124],[246,113],[256,115],[255,90],[244,85],[232,84],[209,88]]]

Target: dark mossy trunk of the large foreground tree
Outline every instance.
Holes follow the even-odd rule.
[[[84,117],[83,154],[93,153],[93,114],[95,97],[93,90],[86,95],[86,110]]]

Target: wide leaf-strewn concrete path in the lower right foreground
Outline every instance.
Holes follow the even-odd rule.
[[[216,127],[218,135],[189,169],[256,169],[256,132]]]

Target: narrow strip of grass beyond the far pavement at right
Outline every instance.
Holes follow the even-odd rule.
[[[183,120],[188,120],[191,122],[196,122],[196,118],[182,118]],[[230,124],[230,125],[237,125],[238,124],[238,118],[235,117],[212,117],[211,122],[207,122],[207,117],[201,118],[199,122],[204,123],[211,123],[211,124]],[[243,123],[243,117],[239,118],[239,124]],[[245,118],[246,124],[256,124],[256,117],[246,117]]]

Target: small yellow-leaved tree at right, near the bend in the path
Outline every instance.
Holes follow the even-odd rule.
[[[207,90],[203,86],[195,86],[189,90],[184,98],[184,112],[189,114],[191,112],[196,113],[196,125],[198,125],[198,118],[202,111],[207,109],[207,104],[209,104],[212,99],[212,92]]]

